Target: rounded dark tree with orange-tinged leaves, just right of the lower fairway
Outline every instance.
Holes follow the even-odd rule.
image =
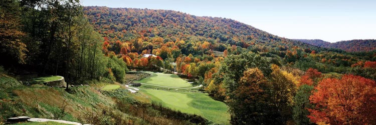
[[[258,68],[248,68],[235,89],[234,96],[227,99],[233,124],[270,123],[268,82]]]

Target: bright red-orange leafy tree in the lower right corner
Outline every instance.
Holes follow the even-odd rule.
[[[326,78],[315,87],[308,109],[312,122],[330,124],[376,124],[376,83],[352,74]]]

